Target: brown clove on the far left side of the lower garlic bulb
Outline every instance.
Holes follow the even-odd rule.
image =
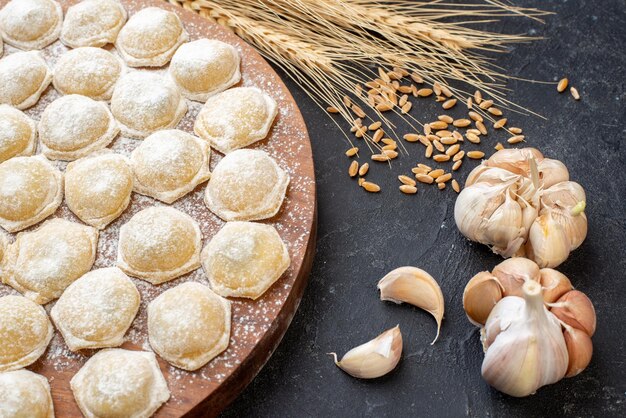
[[[463,291],[463,309],[471,323],[482,326],[494,306],[502,299],[502,286],[491,273],[482,271],[472,277]]]

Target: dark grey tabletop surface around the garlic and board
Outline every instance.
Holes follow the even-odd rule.
[[[395,176],[421,161],[422,148],[370,177],[383,192],[366,194],[347,176],[341,133],[293,83],[315,155],[319,231],[317,255],[302,304],[276,353],[225,411],[241,416],[626,416],[626,1],[519,1],[557,14],[541,25],[511,19],[490,28],[534,33],[546,40],[498,56],[514,76],[556,81],[567,75],[582,100],[554,85],[510,83],[510,98],[546,116],[509,114],[530,146],[562,160],[587,191],[589,235],[559,268],[594,302],[594,357],[581,375],[515,399],[480,376],[478,330],[465,318],[462,293],[473,274],[501,261],[457,231],[452,190],[397,191]],[[433,120],[434,103],[412,114]],[[460,109],[458,110],[460,112]],[[490,134],[493,146],[504,134]],[[366,157],[363,155],[362,158]],[[364,161],[364,159],[362,159]],[[462,179],[475,164],[465,164]],[[441,284],[446,315],[441,337],[429,345],[435,322],[425,312],[378,300],[376,283],[389,270],[415,265]],[[400,324],[403,359],[390,375],[361,381],[342,373],[325,353],[343,354]]]

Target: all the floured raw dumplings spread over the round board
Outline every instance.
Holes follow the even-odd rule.
[[[190,41],[157,7],[129,17],[119,0],[83,0],[64,16],[54,0],[11,0],[0,35],[0,279],[21,294],[0,297],[0,416],[54,416],[47,379],[24,368],[55,329],[72,351],[102,349],[71,380],[85,416],[150,416],[170,397],[154,353],[206,365],[229,345],[227,297],[259,298],[290,265],[276,229],[252,222],[278,213],[289,175],[244,149],[268,136],[277,103],[233,87],[235,47]],[[57,40],[68,50],[51,68],[41,50]],[[50,85],[59,98],[35,121]],[[204,103],[195,135],[176,129],[189,100]],[[137,139],[129,155],[108,148],[120,135]],[[225,156],[211,173],[212,148]],[[226,223],[203,248],[198,222],[170,204],[207,181],[207,210]],[[121,225],[115,265],[92,269],[132,193],[153,205]],[[63,202],[81,222],[48,219]],[[210,287],[186,282],[149,303],[154,353],[117,348],[141,302],[129,276],[157,286],[201,267]]]

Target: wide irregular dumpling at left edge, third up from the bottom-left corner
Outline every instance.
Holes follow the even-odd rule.
[[[22,232],[2,260],[2,281],[39,304],[61,296],[67,286],[91,270],[98,231],[65,219],[51,219]]]

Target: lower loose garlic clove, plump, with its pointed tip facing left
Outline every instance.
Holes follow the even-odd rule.
[[[359,379],[374,379],[392,371],[402,355],[402,334],[396,325],[371,341],[348,351],[337,361],[336,353],[329,353],[335,358],[335,364],[350,376]]]

